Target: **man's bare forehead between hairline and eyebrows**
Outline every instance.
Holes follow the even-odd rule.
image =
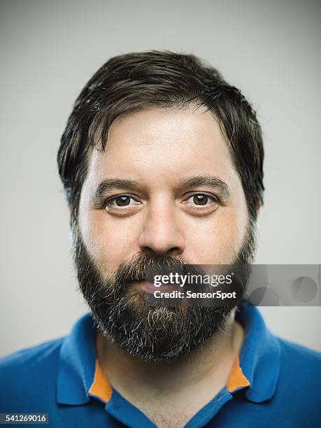
[[[92,150],[87,180],[165,183],[204,173],[225,179],[236,174],[213,113],[205,108],[146,109],[113,122],[106,149]]]

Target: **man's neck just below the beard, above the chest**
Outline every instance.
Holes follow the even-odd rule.
[[[218,392],[227,382],[243,341],[243,329],[235,321],[234,315],[232,312],[224,328],[208,338],[203,346],[190,352],[184,359],[170,363],[132,357],[98,331],[96,352],[99,364],[111,385],[124,397],[129,397],[131,391],[137,391],[137,385],[145,392],[175,394],[182,388],[208,383],[213,391]]]

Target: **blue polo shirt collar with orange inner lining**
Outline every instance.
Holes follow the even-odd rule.
[[[278,341],[266,328],[255,306],[242,306],[236,313],[236,320],[243,324],[244,340],[227,381],[227,390],[234,392],[248,387],[245,398],[261,403],[271,399],[276,390],[280,369]],[[86,404],[90,397],[105,403],[110,399],[110,384],[96,359],[96,331],[92,315],[87,313],[64,338],[57,376],[59,404]]]

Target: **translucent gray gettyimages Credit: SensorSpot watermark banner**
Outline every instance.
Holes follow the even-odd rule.
[[[320,265],[166,265],[146,268],[148,304],[320,306]]]

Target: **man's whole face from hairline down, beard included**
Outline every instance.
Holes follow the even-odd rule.
[[[245,247],[246,259],[253,244],[250,238],[246,246],[248,224],[241,180],[212,113],[201,108],[146,109],[117,119],[106,150],[94,148],[90,155],[75,244],[80,288],[104,334],[135,355],[155,359],[178,357],[203,343],[231,308],[203,308],[207,313],[190,309],[190,318],[188,311],[179,309],[175,317],[169,308],[152,312],[141,299],[148,291],[146,283],[134,280],[120,290],[115,275],[125,264],[125,276],[119,278],[130,277],[131,263],[140,257],[145,257],[140,267],[148,257],[231,264]],[[126,306],[123,312],[120,301]],[[193,333],[188,326],[198,315],[208,325],[196,338],[199,327]],[[177,338],[171,341],[169,336],[182,327],[190,334],[190,343],[171,352]],[[124,338],[120,330],[127,336],[129,330],[130,337]],[[148,336],[139,350],[134,334]],[[158,353],[150,350],[157,347]]]

